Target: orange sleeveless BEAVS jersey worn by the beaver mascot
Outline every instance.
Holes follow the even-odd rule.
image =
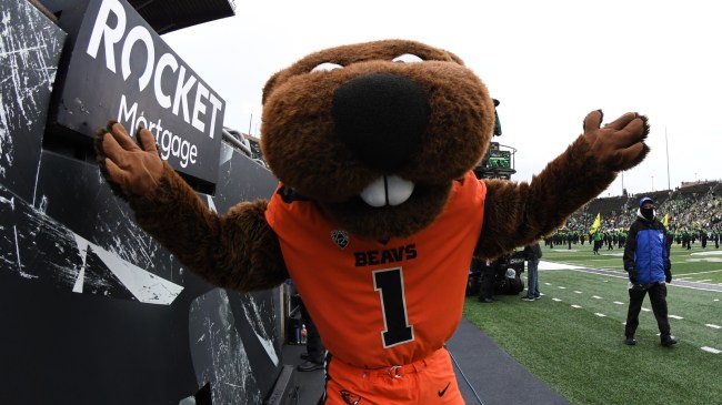
[[[387,243],[344,233],[312,201],[273,195],[265,219],[335,360],[380,368],[443,346],[461,320],[485,195],[485,184],[469,172],[431,225]]]

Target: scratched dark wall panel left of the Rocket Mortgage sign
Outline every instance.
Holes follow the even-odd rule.
[[[67,34],[28,1],[0,3],[0,182],[31,201]]]

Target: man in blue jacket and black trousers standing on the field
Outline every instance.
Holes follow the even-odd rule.
[[[645,196],[640,200],[636,221],[630,226],[624,245],[624,270],[629,273],[629,311],[624,334],[628,345],[636,344],[634,332],[639,326],[639,314],[646,293],[650,294],[652,311],[660,328],[663,346],[676,344],[671,335],[666,317],[666,283],[672,282],[672,264],[666,243],[666,229],[655,216],[654,201]]]

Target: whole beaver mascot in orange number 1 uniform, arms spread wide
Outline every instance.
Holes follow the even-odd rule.
[[[137,222],[189,270],[241,292],[293,279],[331,354],[328,404],[457,404],[443,345],[472,255],[551,233],[646,155],[646,118],[601,123],[590,112],[530,183],[478,180],[494,128],[485,85],[451,52],[387,40],[312,53],[267,82],[270,201],[212,212],[144,129],[136,143],[110,122],[96,146]]]

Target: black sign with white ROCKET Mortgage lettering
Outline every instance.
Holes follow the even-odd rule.
[[[163,160],[215,184],[225,102],[124,0],[64,9],[70,33],[53,120],[86,136],[109,119],[143,125]]]

